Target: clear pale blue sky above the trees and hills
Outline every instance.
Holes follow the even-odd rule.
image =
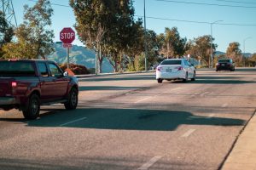
[[[60,41],[63,27],[73,27],[75,17],[68,0],[50,0],[54,15],[52,29],[55,41]],[[18,25],[23,22],[23,5],[34,0],[13,0]],[[144,0],[134,0],[137,17],[143,17]],[[204,35],[215,38],[218,51],[226,51],[230,42],[239,42],[242,52],[256,53],[256,0],[146,0],[147,29],[164,33],[177,27],[181,37],[193,39]],[[73,42],[82,45],[78,37]]]

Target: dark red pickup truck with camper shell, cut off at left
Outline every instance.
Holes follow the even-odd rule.
[[[0,60],[0,109],[19,109],[26,119],[39,116],[40,105],[61,103],[67,110],[78,105],[76,77],[49,60]]]

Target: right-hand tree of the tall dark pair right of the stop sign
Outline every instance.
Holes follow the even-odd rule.
[[[129,60],[134,59],[134,53],[131,53],[131,50],[137,53],[142,47],[143,22],[140,19],[134,20],[134,8],[131,0],[119,1],[119,6],[115,7],[115,10],[112,27],[105,38],[108,43],[105,56],[111,61],[115,71],[124,71]]]

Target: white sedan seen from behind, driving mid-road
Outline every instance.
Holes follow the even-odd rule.
[[[187,59],[165,59],[156,67],[156,80],[195,81],[195,67]]]

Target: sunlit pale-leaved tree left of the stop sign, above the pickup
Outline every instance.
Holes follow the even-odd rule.
[[[54,32],[49,30],[50,17],[53,9],[49,0],[38,0],[29,8],[24,6],[24,22],[15,30],[17,42],[3,46],[5,58],[45,59],[45,56],[54,52]]]

